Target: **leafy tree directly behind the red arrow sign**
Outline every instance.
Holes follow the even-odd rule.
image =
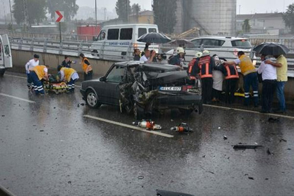
[[[76,0],[47,0],[48,13],[51,19],[55,18],[55,11],[60,10],[64,12],[66,21],[71,21],[76,15],[78,5],[75,4]]]

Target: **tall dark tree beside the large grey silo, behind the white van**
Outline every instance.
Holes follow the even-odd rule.
[[[176,0],[153,0],[152,8],[159,31],[172,33],[176,23]]]

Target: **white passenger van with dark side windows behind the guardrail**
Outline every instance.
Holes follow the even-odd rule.
[[[138,42],[138,38],[150,32],[158,32],[157,25],[128,24],[104,26],[98,34],[97,41],[94,41],[91,46],[91,54],[100,58],[129,60],[132,57],[134,48],[138,48],[141,51],[145,48],[145,43]],[[158,51],[158,45],[151,45],[149,48],[154,48]]]

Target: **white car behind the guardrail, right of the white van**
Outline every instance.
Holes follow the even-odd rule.
[[[210,50],[211,55],[217,54],[221,58],[232,60],[238,58],[238,51],[251,51],[252,45],[247,38],[241,37],[220,37],[220,36],[206,36],[190,40],[194,44],[193,49],[185,49],[185,61],[190,62],[201,45],[204,49]],[[214,51],[215,50],[215,51]],[[172,55],[174,50],[167,52],[168,57]],[[255,58],[255,56],[254,56]],[[256,61],[254,61],[256,64]],[[188,63],[183,62],[183,67],[187,68]]]

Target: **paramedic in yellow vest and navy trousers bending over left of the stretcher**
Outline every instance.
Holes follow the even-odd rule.
[[[34,83],[34,91],[36,95],[45,95],[42,79],[48,81],[48,67],[47,65],[37,65],[30,69],[30,77]]]

